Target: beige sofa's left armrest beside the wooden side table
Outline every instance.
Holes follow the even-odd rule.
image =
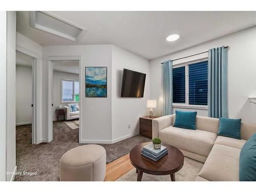
[[[158,132],[173,125],[173,115],[158,117],[152,121],[152,139],[158,137]]]

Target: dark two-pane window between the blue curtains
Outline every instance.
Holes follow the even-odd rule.
[[[173,68],[173,103],[207,105],[208,61]]]

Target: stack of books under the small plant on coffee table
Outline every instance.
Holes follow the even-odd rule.
[[[153,161],[158,161],[159,159],[161,159],[163,156],[167,154],[168,154],[168,151],[165,146],[162,145],[161,148],[159,148],[159,150],[156,150],[154,148],[153,143],[145,145],[141,150],[141,155]]]

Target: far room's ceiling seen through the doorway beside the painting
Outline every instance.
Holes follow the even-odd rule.
[[[78,61],[60,61],[53,62],[53,70],[79,74],[79,62]]]

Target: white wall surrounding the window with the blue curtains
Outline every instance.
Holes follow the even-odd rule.
[[[244,122],[256,123],[256,105],[248,100],[248,97],[256,96],[256,27],[151,60],[151,97],[158,99],[158,108],[156,109],[158,115],[162,115],[163,106],[160,63],[164,60],[200,53],[219,46],[229,46],[227,51],[228,116],[229,118],[242,118]],[[199,59],[204,56],[198,55],[178,62]],[[177,62],[174,62],[174,65],[175,63]]]

